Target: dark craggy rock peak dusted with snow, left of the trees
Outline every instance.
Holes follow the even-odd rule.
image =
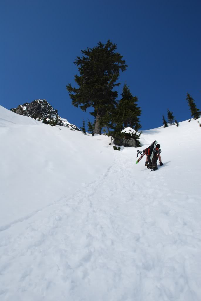
[[[36,99],[30,104],[26,102],[23,105],[19,105],[16,109],[11,109],[12,112],[19,115],[25,115],[36,119],[38,121],[43,121],[44,123],[55,123],[58,126],[72,126],[73,129],[79,131],[78,127],[71,125],[68,120],[61,118],[57,110],[54,110],[53,107],[45,99]]]

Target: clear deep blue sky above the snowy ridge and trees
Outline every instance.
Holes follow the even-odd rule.
[[[110,39],[129,66],[120,75],[142,108],[142,129],[162,125],[167,108],[190,118],[185,100],[201,110],[201,2],[1,1],[0,104],[8,109],[47,99],[81,126],[90,116],[71,104],[73,64],[81,49]],[[91,118],[91,117],[90,117]]]

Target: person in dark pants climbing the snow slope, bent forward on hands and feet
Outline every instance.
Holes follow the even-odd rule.
[[[154,149],[154,143],[155,141],[148,147],[148,149],[146,149],[146,162],[145,162],[145,166],[147,166],[148,169],[152,169],[152,170],[157,170],[158,167],[157,167],[157,160],[159,159],[159,163],[160,163],[160,166],[163,165],[162,163],[162,160],[161,160],[161,156],[160,156],[160,144],[157,144],[156,145],[156,148]],[[154,156],[151,160],[151,154],[152,152],[154,151]]]

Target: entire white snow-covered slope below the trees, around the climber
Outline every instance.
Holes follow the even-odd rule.
[[[200,137],[193,119],[144,131],[150,172],[136,148],[0,107],[0,300],[200,301]]]

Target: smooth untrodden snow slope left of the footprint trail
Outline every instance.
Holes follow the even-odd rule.
[[[0,175],[0,198],[4,200],[0,223],[3,225],[76,191],[94,179],[93,169],[97,175],[101,174],[112,158],[107,143],[106,146],[101,143],[107,140],[105,136],[101,141],[96,137],[92,140],[82,132],[51,127],[1,106],[0,129],[4,158]],[[96,145],[96,149],[91,145]]]

